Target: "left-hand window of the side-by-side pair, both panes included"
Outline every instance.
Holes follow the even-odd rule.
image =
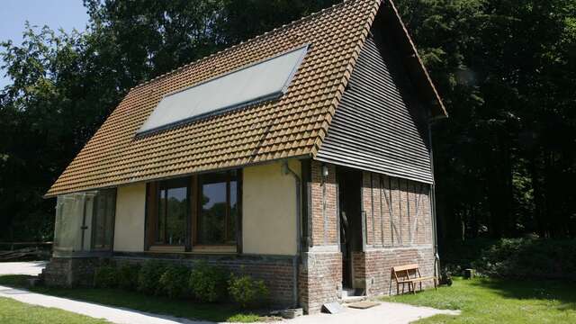
[[[184,245],[188,219],[187,179],[163,181],[157,191],[156,243]]]

